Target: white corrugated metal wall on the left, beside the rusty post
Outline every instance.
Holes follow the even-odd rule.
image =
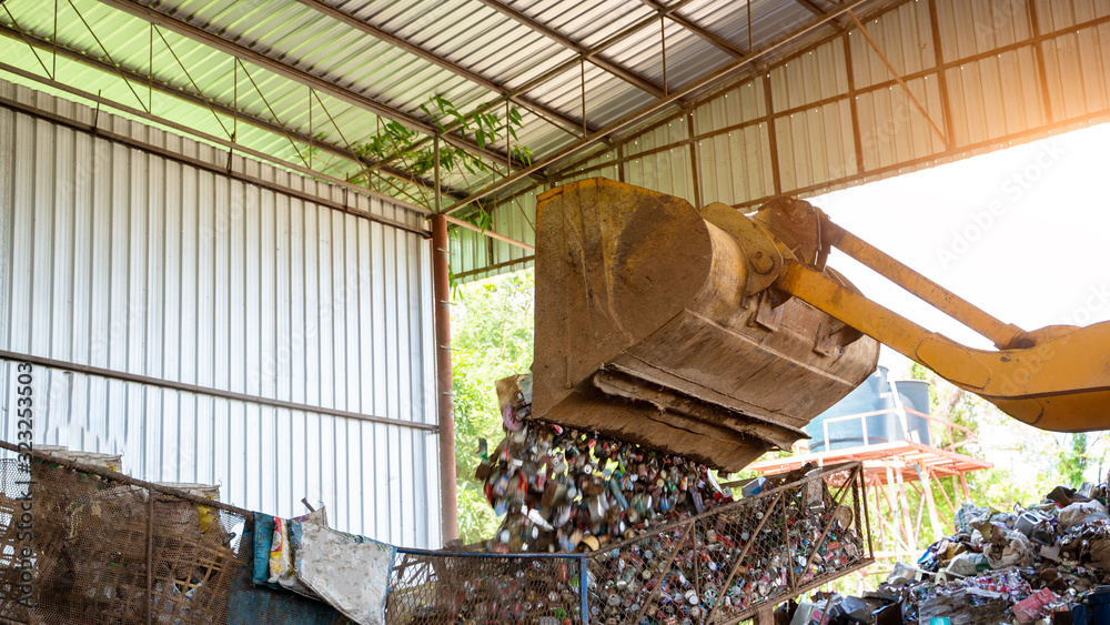
[[[229,163],[7,82],[0,98]],[[230,164],[274,187],[0,108],[0,350],[356,415],[37,366],[36,443],[119,453],[139,478],[220,484],[224,501],[282,516],[306,512],[307,497],[340,530],[438,547],[422,215],[238,157]],[[0,362],[8,441],[14,370]]]

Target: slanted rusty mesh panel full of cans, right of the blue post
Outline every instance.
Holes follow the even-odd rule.
[[[591,558],[591,615],[736,623],[872,562],[858,464],[833,467]]]

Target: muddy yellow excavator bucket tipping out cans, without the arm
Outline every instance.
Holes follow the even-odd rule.
[[[876,341],[767,288],[789,252],[709,209],[604,179],[539,198],[535,419],[731,472],[871,374]]]

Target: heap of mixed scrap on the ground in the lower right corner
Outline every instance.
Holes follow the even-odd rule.
[[[916,565],[897,563],[878,592],[823,597],[827,622],[1110,623],[1108,493],[1106,483],[1057,486],[1041,503],[1010,512],[963,504],[957,533]],[[815,601],[783,609],[794,611],[790,623],[806,624],[824,607]]]

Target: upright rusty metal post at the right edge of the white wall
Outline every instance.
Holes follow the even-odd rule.
[[[455,406],[451,383],[451,243],[447,218],[442,214],[440,137],[435,138],[435,211],[432,215],[432,291],[435,300],[435,393],[440,424],[440,502],[443,543],[458,538],[455,496]]]

